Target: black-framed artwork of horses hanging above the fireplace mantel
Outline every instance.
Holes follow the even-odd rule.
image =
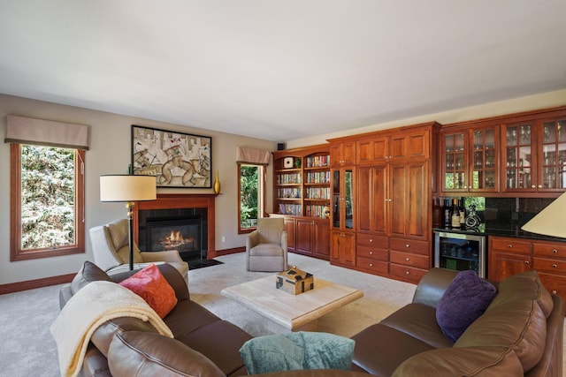
[[[212,138],[132,124],[131,167],[157,187],[210,188]]]

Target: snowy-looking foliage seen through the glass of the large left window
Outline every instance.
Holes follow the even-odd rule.
[[[21,146],[21,249],[74,243],[74,149]]]

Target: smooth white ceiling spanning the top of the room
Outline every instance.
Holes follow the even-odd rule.
[[[563,88],[564,0],[0,2],[0,93],[260,139]]]

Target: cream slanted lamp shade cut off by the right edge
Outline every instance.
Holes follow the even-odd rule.
[[[566,238],[566,192],[525,223],[522,230]]]

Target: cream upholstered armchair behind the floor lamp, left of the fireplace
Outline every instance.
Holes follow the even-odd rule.
[[[107,274],[126,271],[129,263],[128,224],[120,219],[88,230],[90,245],[96,265]],[[134,243],[134,268],[144,268],[149,263],[166,262],[176,268],[188,282],[188,264],[176,250],[165,252],[140,252]]]

